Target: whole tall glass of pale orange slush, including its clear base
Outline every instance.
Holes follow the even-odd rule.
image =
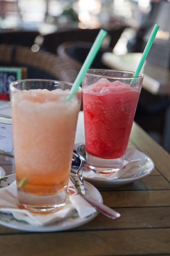
[[[12,82],[11,107],[18,205],[47,213],[66,204],[81,89],[72,84],[27,79]]]

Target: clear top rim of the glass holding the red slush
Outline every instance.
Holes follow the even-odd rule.
[[[94,73],[91,73],[91,72],[94,72]],[[101,73],[95,73],[95,72],[100,72],[101,71]],[[102,73],[103,72],[103,73]],[[104,72],[106,72],[105,74],[104,74]],[[133,72],[133,71],[120,71],[120,70],[116,70],[116,69],[89,69],[88,71],[87,71],[87,73],[86,73],[86,76],[88,75],[88,76],[98,76],[98,77],[103,77],[104,78],[104,76],[106,76],[107,75],[107,72],[109,73],[109,72],[114,72],[114,73],[128,73],[128,74],[132,74],[132,76],[127,76],[127,77],[124,77],[124,76],[118,76],[118,75],[109,75],[109,76],[107,76],[106,78],[107,79],[122,79],[122,80],[129,80],[129,79],[133,79],[133,78],[143,78],[144,77],[144,74],[143,73],[139,73],[139,75],[138,76],[133,76],[134,74],[135,74],[135,72]]]

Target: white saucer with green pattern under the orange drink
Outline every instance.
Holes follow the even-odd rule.
[[[6,178],[7,177],[7,178]],[[1,181],[1,186],[6,187],[8,184],[11,184],[13,181],[15,181],[15,174],[11,174],[6,176],[4,181]],[[100,192],[95,188],[93,185],[88,183],[87,181],[84,182],[84,185],[86,187],[87,195],[91,197],[91,199],[94,199],[96,201],[99,201],[100,203],[103,203],[102,196]],[[71,216],[67,219],[61,220],[60,222],[51,223],[47,226],[32,226],[26,222],[21,222],[16,219],[12,215],[6,215],[4,213],[0,213],[0,225],[6,226],[8,228],[13,229],[19,229],[22,231],[30,231],[30,232],[56,232],[56,231],[64,231],[67,229],[73,229],[77,226],[84,225],[87,222],[90,222],[90,220],[94,219],[98,213],[95,213],[89,217],[86,217],[84,219],[80,219],[79,216]]]

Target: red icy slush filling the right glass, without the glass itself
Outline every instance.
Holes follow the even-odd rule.
[[[83,89],[86,151],[103,159],[125,155],[139,88],[106,78]]]

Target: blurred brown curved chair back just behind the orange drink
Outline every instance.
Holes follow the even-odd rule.
[[[74,81],[77,72],[61,57],[47,52],[32,52],[30,47],[0,44],[0,66],[27,68],[27,78]]]

